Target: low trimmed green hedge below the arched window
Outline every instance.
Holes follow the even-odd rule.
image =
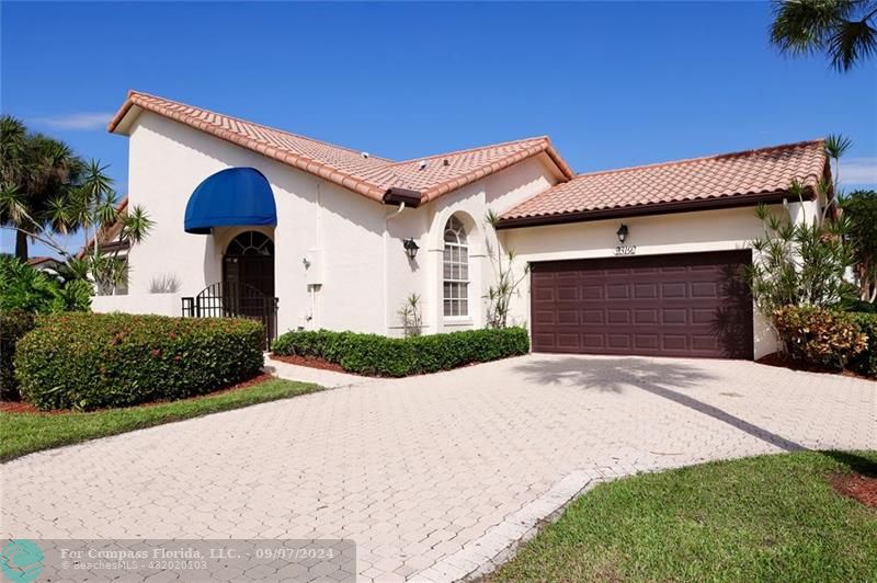
[[[287,332],[274,341],[278,355],[314,356],[358,375],[405,377],[485,363],[529,352],[523,328],[466,330],[407,339],[354,332]]]

